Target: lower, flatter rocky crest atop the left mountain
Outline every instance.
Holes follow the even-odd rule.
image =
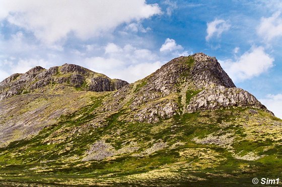
[[[74,64],[63,64],[48,70],[36,66],[24,74],[13,74],[0,83],[0,100],[13,95],[72,88],[76,91],[114,91],[127,85],[126,81],[110,79]]]

